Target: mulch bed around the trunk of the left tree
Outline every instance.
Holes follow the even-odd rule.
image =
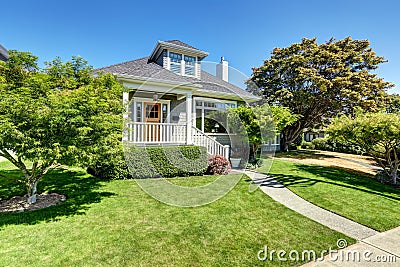
[[[36,197],[36,203],[28,204],[26,196],[15,196],[10,199],[0,200],[0,212],[23,212],[47,208],[65,201],[64,195],[57,193],[40,194]]]

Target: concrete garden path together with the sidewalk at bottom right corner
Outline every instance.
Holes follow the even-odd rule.
[[[326,255],[323,261],[311,261],[304,266],[400,266],[400,227],[379,233],[304,200],[265,174],[255,171],[245,171],[245,174],[275,201],[357,239],[356,244],[343,247],[335,254]]]

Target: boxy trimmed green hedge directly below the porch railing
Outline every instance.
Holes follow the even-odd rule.
[[[133,146],[125,158],[134,178],[203,175],[208,168],[207,150],[199,146]]]

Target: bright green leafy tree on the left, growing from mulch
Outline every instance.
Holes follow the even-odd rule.
[[[39,69],[18,51],[0,65],[0,156],[22,172],[28,203],[49,170],[88,166],[121,139],[122,86],[92,70],[80,57]]]

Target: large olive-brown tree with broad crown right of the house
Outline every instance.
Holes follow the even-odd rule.
[[[354,107],[376,111],[386,89],[392,87],[371,71],[385,62],[368,40],[331,39],[318,44],[304,38],[286,48],[275,48],[270,59],[253,68],[252,90],[267,103],[287,106],[302,115],[282,131],[281,150],[305,128],[314,127]]]

